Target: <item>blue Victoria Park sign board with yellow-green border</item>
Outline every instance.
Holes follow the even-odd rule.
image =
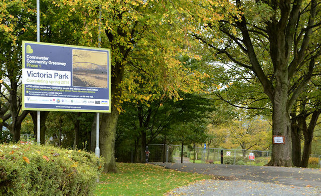
[[[23,41],[23,110],[110,112],[110,50]]]

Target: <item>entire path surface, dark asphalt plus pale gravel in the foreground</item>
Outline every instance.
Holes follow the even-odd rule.
[[[153,163],[213,175],[168,195],[321,195],[321,169],[225,164]]]

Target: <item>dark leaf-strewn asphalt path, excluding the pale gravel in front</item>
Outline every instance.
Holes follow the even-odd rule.
[[[194,163],[152,163],[179,171],[213,175],[222,180],[252,180],[321,188],[321,169]],[[321,195],[321,194],[320,194]]]

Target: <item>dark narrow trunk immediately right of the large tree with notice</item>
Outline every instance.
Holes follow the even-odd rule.
[[[295,113],[291,113],[292,163],[301,166],[301,129],[297,126]]]

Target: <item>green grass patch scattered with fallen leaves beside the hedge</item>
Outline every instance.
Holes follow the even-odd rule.
[[[117,163],[117,167],[119,173],[100,176],[95,195],[163,195],[176,187],[212,178],[151,164]]]

